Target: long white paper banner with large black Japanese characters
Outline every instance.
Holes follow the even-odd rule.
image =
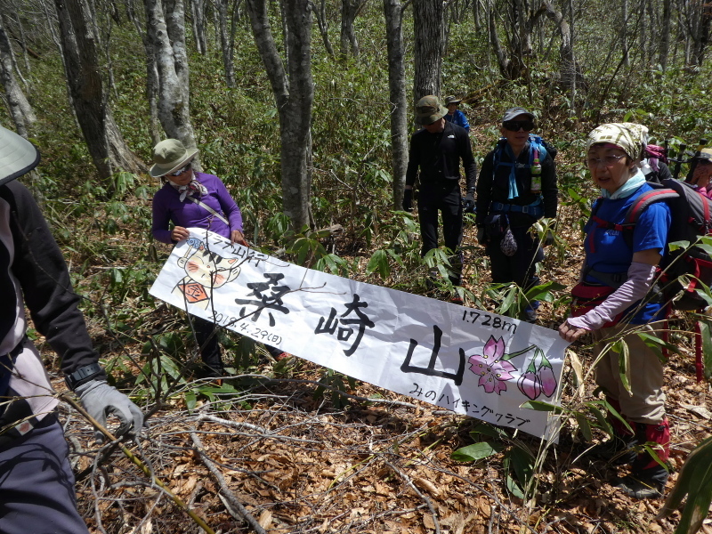
[[[567,343],[465,306],[286,263],[189,229],[150,294],[340,373],[495,425],[555,439]]]

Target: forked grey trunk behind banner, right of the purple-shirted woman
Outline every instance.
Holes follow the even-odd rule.
[[[270,78],[279,111],[282,205],[292,229],[301,231],[309,224],[311,210],[311,174],[307,155],[314,100],[312,12],[308,0],[284,0],[283,7],[287,70],[274,43],[266,0],[247,0],[255,44]]]

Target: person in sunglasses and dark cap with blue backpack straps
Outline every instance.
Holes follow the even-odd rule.
[[[544,260],[531,226],[543,216],[553,219],[558,207],[555,150],[530,136],[535,127],[526,109],[507,109],[502,137],[485,156],[477,182],[477,240],[490,256],[492,282],[524,290],[538,285],[536,266]],[[522,319],[535,322],[537,308],[537,301],[529,303]]]

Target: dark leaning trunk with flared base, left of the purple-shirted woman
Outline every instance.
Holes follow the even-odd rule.
[[[93,13],[85,0],[55,0],[60,22],[67,84],[77,120],[94,166],[103,180],[119,169],[145,172],[146,166],[128,149],[107,104],[93,31]]]

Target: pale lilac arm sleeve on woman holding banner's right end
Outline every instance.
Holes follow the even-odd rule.
[[[574,328],[597,330],[638,302],[648,293],[655,279],[657,265],[633,262],[628,268],[628,279],[599,306],[580,317],[566,320]]]

